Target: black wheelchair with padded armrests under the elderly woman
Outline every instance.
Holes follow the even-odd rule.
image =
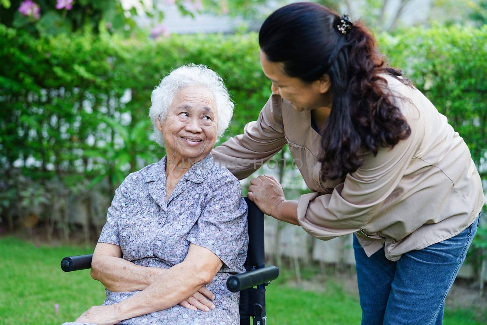
[[[240,291],[240,324],[266,325],[265,287],[279,276],[279,268],[264,263],[264,214],[247,197],[248,251],[244,267],[246,272],[231,275],[226,287],[231,292]],[[61,268],[71,272],[91,268],[93,254],[65,257]]]

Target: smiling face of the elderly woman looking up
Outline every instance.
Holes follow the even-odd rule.
[[[202,159],[211,152],[217,138],[217,110],[213,94],[201,86],[188,86],[176,93],[159,124],[168,157]]]

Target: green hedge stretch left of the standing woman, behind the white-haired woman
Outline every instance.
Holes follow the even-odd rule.
[[[238,133],[269,95],[256,43],[255,34],[34,39],[0,25],[0,157],[12,166],[31,156],[40,162],[37,171],[101,173],[117,183],[161,155],[149,140],[150,93],[190,62],[225,79],[237,103],[228,134]]]

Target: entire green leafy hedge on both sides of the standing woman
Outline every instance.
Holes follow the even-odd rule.
[[[487,26],[411,29],[378,40],[463,136],[485,182]],[[102,30],[35,39],[0,25],[2,210],[20,202],[25,209],[11,212],[14,219],[36,202],[47,207],[59,187],[81,193],[103,184],[112,195],[126,174],[161,157],[150,140],[150,93],[182,64],[206,64],[224,78],[236,102],[226,136],[239,134],[270,94],[258,57],[255,33],[154,41]],[[52,179],[62,185],[49,190]]]

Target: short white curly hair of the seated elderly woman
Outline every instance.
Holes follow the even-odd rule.
[[[217,109],[217,137],[225,133],[233,115],[233,101],[223,83],[223,79],[216,72],[203,64],[188,64],[173,70],[165,76],[161,83],[152,91],[149,117],[154,128],[155,141],[164,147],[164,137],[157,129],[156,121],[162,121],[168,113],[169,107],[176,93],[187,86],[199,85],[207,88],[215,100]]]

